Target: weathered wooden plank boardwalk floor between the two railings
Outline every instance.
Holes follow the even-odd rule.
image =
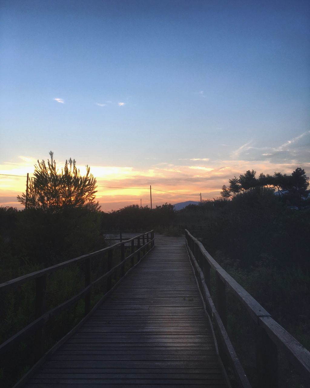
[[[184,237],[155,244],[27,388],[226,387]]]

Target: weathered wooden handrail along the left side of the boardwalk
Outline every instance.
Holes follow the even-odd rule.
[[[146,242],[142,246],[140,246],[140,237],[141,236],[144,237],[145,235],[146,235]],[[149,239],[149,235],[151,237],[150,239]],[[136,246],[137,247],[136,250],[134,250],[134,240],[135,239],[138,240],[138,246]],[[131,259],[131,264],[133,265],[134,264],[133,260],[134,260],[135,255],[137,255],[138,260],[140,260],[140,251],[141,250],[143,250],[143,255],[144,255],[145,248],[147,248],[146,253],[148,251],[150,251],[150,249],[153,248],[154,241],[155,241],[154,230],[150,230],[149,232],[142,233],[138,236],[134,236],[130,240],[126,240],[126,243],[128,241],[131,241],[131,254],[127,257],[125,257],[125,250],[124,250],[125,241],[124,242],[117,242],[116,244],[114,244],[110,247],[100,249],[99,251],[95,251],[95,252],[90,253],[88,255],[79,256],[79,257],[73,258],[71,260],[67,260],[66,262],[62,262],[62,263],[59,263],[57,265],[53,265],[52,267],[48,267],[48,268],[45,268],[43,270],[32,272],[31,274],[27,274],[27,275],[24,275],[24,276],[21,276],[21,277],[18,277],[16,279],[12,279],[8,282],[4,282],[4,283],[0,284],[0,291],[8,291],[10,289],[16,288],[17,286],[21,286],[25,282],[36,279],[35,305],[36,305],[36,309],[39,312],[39,316],[36,317],[36,319],[33,322],[31,322],[28,326],[21,329],[18,333],[14,334],[14,336],[10,337],[8,340],[6,340],[5,342],[3,342],[0,345],[0,354],[4,353],[7,350],[7,348],[14,345],[17,341],[19,341],[26,334],[29,334],[33,331],[36,331],[37,333],[40,333],[40,335],[42,336],[43,335],[42,328],[48,322],[48,320],[50,320],[55,315],[60,314],[62,311],[67,310],[67,308],[71,307],[73,304],[75,304],[77,301],[81,300],[83,297],[85,298],[85,315],[88,314],[88,312],[90,311],[90,292],[91,292],[91,289],[94,288],[95,286],[98,286],[98,284],[100,284],[100,282],[102,282],[104,279],[111,279],[111,276],[119,268],[121,268],[121,270],[122,270],[121,276],[124,276],[124,265],[128,260]],[[144,238],[143,238],[143,242],[144,242]],[[106,253],[106,252],[112,253],[112,250],[115,248],[118,248],[118,247],[121,248],[121,263],[115,265],[113,268],[108,268],[108,271],[105,274],[98,277],[95,281],[90,282],[90,259],[94,258],[98,255],[101,255],[102,253]],[[42,290],[38,286],[38,285],[40,285],[40,283],[42,283],[41,279],[44,279],[43,283],[45,284],[45,279],[46,279],[47,274],[51,274],[51,273],[53,273],[61,268],[67,267],[68,265],[80,263],[83,261],[85,263],[87,263],[87,265],[85,266],[85,287],[83,288],[83,290],[80,291],[79,293],[77,293],[76,295],[74,295],[69,300],[64,301],[63,303],[61,303],[57,307],[49,310],[48,312],[43,313],[41,311],[41,308],[40,308],[40,305],[43,304],[41,301],[41,299],[43,298],[42,292],[41,292]],[[111,261],[111,264],[112,264],[112,261]],[[38,308],[38,306],[39,306],[39,308]],[[36,315],[38,312],[36,311]],[[42,338],[38,335],[36,335],[36,337],[38,338],[38,341],[40,342],[40,346],[41,346],[42,345]],[[36,345],[38,345],[38,344],[36,344]],[[40,353],[42,353],[42,352],[40,352]]]

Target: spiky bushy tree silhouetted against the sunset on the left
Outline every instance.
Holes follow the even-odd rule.
[[[38,160],[34,165],[34,178],[29,182],[27,207],[44,211],[59,212],[65,208],[86,206],[90,210],[99,210],[95,201],[96,178],[86,166],[86,175],[81,176],[75,159],[65,161],[61,172],[58,171],[53,152],[45,163]],[[20,203],[26,206],[26,194],[17,196]]]

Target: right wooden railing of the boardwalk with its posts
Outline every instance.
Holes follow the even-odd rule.
[[[200,241],[185,231],[186,247],[195,269],[200,291],[215,328],[219,352],[223,363],[229,363],[234,370],[238,383],[250,388],[243,367],[234,351],[226,331],[226,290],[230,290],[237,300],[245,306],[255,326],[256,368],[258,386],[262,388],[279,387],[278,350],[286,353],[289,361],[298,372],[310,381],[310,352],[291,334],[280,326],[270,314],[212,258]],[[215,271],[215,300],[212,300],[210,271]],[[227,367],[227,365],[224,365]]]

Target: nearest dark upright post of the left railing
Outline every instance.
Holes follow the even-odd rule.
[[[42,275],[36,278],[36,298],[34,305],[34,317],[38,319],[43,315],[45,305],[47,275]],[[44,327],[40,327],[34,334],[34,352],[36,357],[41,357],[44,350],[45,333]]]

